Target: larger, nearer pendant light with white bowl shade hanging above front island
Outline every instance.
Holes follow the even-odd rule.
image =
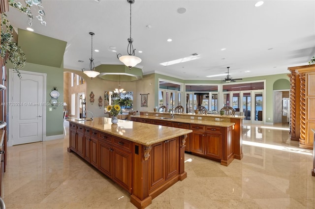
[[[134,52],[136,51],[136,49],[133,49],[133,46],[132,46],[133,39],[131,38],[131,4],[134,3],[134,0],[127,0],[127,2],[130,3],[130,36],[127,39],[128,40],[128,46],[127,46],[128,55],[122,56],[121,53],[116,54],[116,55],[117,55],[117,58],[121,62],[123,62],[126,66],[129,67],[129,69],[131,69],[132,67],[139,64],[141,62],[141,59],[134,55]]]

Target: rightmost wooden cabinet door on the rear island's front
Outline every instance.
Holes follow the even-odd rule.
[[[221,134],[206,133],[206,156],[221,159],[222,136]]]

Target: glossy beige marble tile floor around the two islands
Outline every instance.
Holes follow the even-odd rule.
[[[8,148],[3,174],[7,209],[134,209],[129,194],[80,157],[64,139]],[[148,209],[312,209],[311,150],[290,141],[285,126],[244,126],[242,160],[229,166],[186,154],[188,177]]]

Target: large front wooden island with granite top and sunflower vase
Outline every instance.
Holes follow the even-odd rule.
[[[69,121],[68,152],[75,152],[126,189],[137,208],[187,177],[184,154],[191,130],[110,118]]]

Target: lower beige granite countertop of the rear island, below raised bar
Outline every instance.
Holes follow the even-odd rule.
[[[206,121],[206,120],[192,120],[192,119],[176,118],[176,115],[175,115],[174,119],[170,119],[171,116],[163,118],[163,117],[158,117],[158,116],[132,115],[131,117],[164,120],[164,121],[188,123],[188,124],[198,124],[198,125],[205,125],[205,126],[230,127],[230,126],[235,125],[235,123],[231,123],[231,122],[219,122],[219,121]]]

